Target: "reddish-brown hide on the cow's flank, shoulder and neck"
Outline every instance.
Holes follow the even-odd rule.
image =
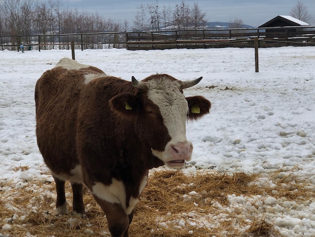
[[[84,174],[88,173],[84,175],[84,179],[89,179],[86,185],[95,181],[110,184],[112,177],[129,183],[130,172],[140,171],[138,167],[143,169],[137,174],[141,178],[147,169],[163,165],[145,149],[146,141],[141,141],[152,127],[145,123],[145,114],[135,123],[134,119],[122,119],[110,107],[114,96],[124,92],[137,94],[137,89],[130,82],[111,76],[84,85],[86,72],[91,73],[58,67],[44,73],[36,84],[37,141],[51,171],[70,174],[82,163]],[[145,104],[145,95],[140,96]],[[130,103],[130,113],[140,112],[145,106],[134,103]],[[150,106],[158,109],[154,104]],[[150,122],[155,124],[153,128],[166,133],[162,117]],[[162,139],[156,144],[163,150],[167,142]]]

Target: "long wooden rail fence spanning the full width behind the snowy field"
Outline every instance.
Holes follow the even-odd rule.
[[[254,47],[254,38],[259,47],[315,46],[315,26],[0,36],[0,49],[70,49],[72,40],[81,50]]]

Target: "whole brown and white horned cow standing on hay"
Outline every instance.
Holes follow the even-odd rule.
[[[56,212],[68,213],[64,185],[72,188],[72,214],[85,215],[83,185],[106,214],[111,236],[128,236],[133,209],[148,170],[181,168],[192,156],[186,122],[209,113],[202,96],[167,74],[131,81],[62,58],[35,86],[36,136],[56,185]]]

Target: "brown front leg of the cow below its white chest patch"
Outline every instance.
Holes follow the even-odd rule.
[[[95,200],[106,214],[108,229],[112,237],[128,237],[128,227],[132,220],[118,203],[110,203],[94,195]]]

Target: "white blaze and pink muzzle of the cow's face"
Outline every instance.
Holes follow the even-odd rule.
[[[163,117],[164,126],[169,132],[169,141],[164,151],[152,150],[152,154],[160,158],[172,168],[180,168],[185,160],[191,159],[193,146],[186,139],[186,120],[188,103],[181,92],[180,81],[163,78],[145,82],[147,97],[156,104]]]

